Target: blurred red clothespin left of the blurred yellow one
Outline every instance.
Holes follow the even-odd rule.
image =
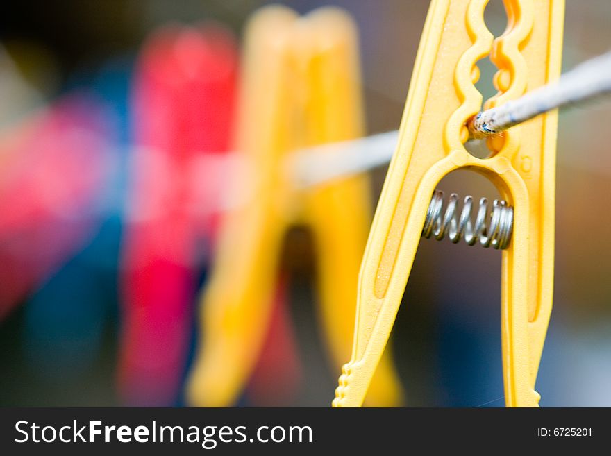
[[[237,61],[231,33],[203,26],[158,31],[137,62],[119,362],[129,405],[178,398],[196,274],[228,178]]]

